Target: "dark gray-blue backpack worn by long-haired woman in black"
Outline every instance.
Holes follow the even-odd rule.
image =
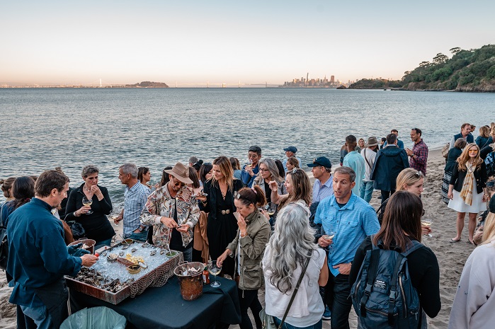
[[[366,252],[351,288],[362,328],[419,328],[422,312],[418,292],[411,284],[407,256],[424,246],[418,241],[411,243],[404,253],[380,248],[381,241]]]

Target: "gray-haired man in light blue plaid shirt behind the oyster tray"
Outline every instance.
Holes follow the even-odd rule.
[[[137,179],[137,166],[134,163],[125,163],[120,166],[118,178],[125,185],[124,209],[114,222],[118,224],[119,221],[124,220],[124,238],[144,242],[148,230],[147,226],[141,225],[140,216],[148,200],[149,188]]]

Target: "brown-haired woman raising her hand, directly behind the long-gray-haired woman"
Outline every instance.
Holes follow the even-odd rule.
[[[295,202],[297,200],[302,200],[305,202],[307,207],[311,204],[312,199],[312,187],[309,183],[309,178],[307,177],[305,171],[302,169],[294,168],[292,171],[288,171],[285,176],[285,190],[288,194],[279,195],[278,194],[278,183],[272,180],[270,182],[271,188],[271,202],[278,204],[278,209],[281,209],[290,202]]]

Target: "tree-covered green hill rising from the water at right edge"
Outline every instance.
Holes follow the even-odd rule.
[[[403,88],[436,91],[495,91],[495,45],[476,50],[452,48],[452,58],[437,54],[404,72]]]

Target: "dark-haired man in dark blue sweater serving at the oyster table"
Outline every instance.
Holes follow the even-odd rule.
[[[81,265],[90,267],[98,260],[88,254],[76,257],[83,250],[65,246],[62,221],[51,211],[67,190],[66,175],[45,171],[36,180],[31,202],[8,217],[7,272],[15,284],[9,301],[21,306],[38,328],[59,328],[68,316],[64,275],[75,277]]]

